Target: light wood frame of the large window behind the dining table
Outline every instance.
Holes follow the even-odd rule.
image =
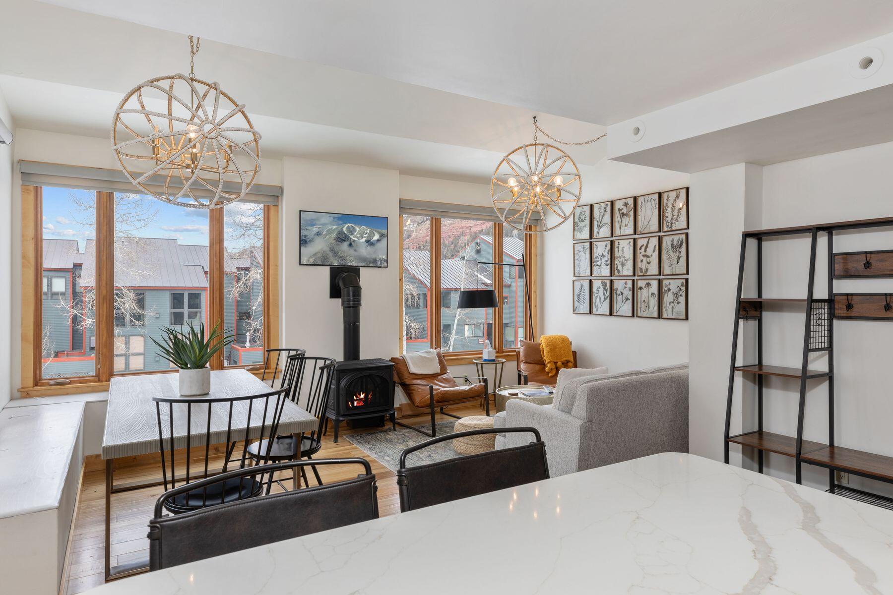
[[[76,187],[76,186],[72,186]],[[114,369],[114,193],[96,192],[96,370],[91,376],[42,378],[41,318],[43,303],[43,188],[21,186],[21,388],[20,396],[93,393],[108,390],[113,376],[171,374],[153,370],[116,375]],[[208,214],[208,322],[223,320],[223,209]],[[263,348],[280,342],[279,300],[279,206],[263,205]],[[184,290],[188,291],[188,290]],[[188,296],[184,295],[184,299]],[[186,304],[184,304],[185,306]],[[222,351],[211,361],[212,369],[223,369]],[[246,368],[256,376],[262,365],[227,366]]]

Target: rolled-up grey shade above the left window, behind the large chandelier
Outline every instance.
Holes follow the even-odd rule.
[[[96,192],[136,193],[142,191],[134,186],[124,172],[119,169],[89,168],[82,165],[63,165],[61,163],[43,163],[41,161],[19,161],[21,183],[29,186],[55,186],[60,188],[79,188]],[[164,177],[156,174],[146,184],[153,190],[162,192]],[[238,192],[240,184],[226,182],[223,189],[227,192]],[[196,195],[213,197],[213,193],[202,189],[194,190]],[[281,186],[255,184],[251,192],[240,202],[256,202],[259,204],[279,204],[282,195]]]

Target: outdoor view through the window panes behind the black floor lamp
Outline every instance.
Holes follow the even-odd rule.
[[[480,350],[493,342],[493,310],[459,310],[462,289],[492,289],[493,267],[478,263],[493,258],[492,223],[469,219],[441,219],[440,222],[440,344],[443,351]],[[505,231],[502,262],[521,264],[524,241],[521,232]],[[403,227],[404,351],[430,347],[428,333],[430,283],[430,219],[404,216]],[[524,337],[526,316],[524,277],[518,267],[503,268],[503,286],[497,293],[503,300],[503,347],[518,345]],[[499,349],[498,345],[494,345]]]

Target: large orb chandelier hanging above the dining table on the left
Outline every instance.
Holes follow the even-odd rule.
[[[201,38],[189,36],[189,74],[146,80],[124,95],[112,149],[124,175],[155,198],[215,209],[247,194],[261,170],[260,133],[244,103],[196,79]]]

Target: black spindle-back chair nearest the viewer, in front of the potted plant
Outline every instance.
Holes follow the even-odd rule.
[[[271,438],[277,435],[290,389],[290,386],[285,386],[270,393],[235,397],[153,397],[164,490],[177,490],[178,484],[182,488],[177,490],[176,497],[165,500],[164,507],[173,514],[181,514],[259,495],[263,483],[255,478],[239,477],[204,483],[200,487],[194,483],[210,475],[225,474],[230,470],[230,465],[238,465],[238,469],[247,467],[246,463],[250,464],[253,460],[248,455],[249,442],[253,438],[263,439],[264,436]],[[243,420],[244,428],[239,427]],[[225,431],[222,429],[224,426]],[[232,449],[239,441],[242,442],[240,456],[230,459]],[[210,468],[214,456],[211,445],[220,443],[227,444],[228,447],[221,459],[222,468],[218,472]],[[204,453],[200,459],[194,461],[193,451],[196,449],[200,453],[204,450]],[[179,456],[179,475],[177,450],[185,450]],[[269,454],[262,452],[258,462],[268,463]]]

